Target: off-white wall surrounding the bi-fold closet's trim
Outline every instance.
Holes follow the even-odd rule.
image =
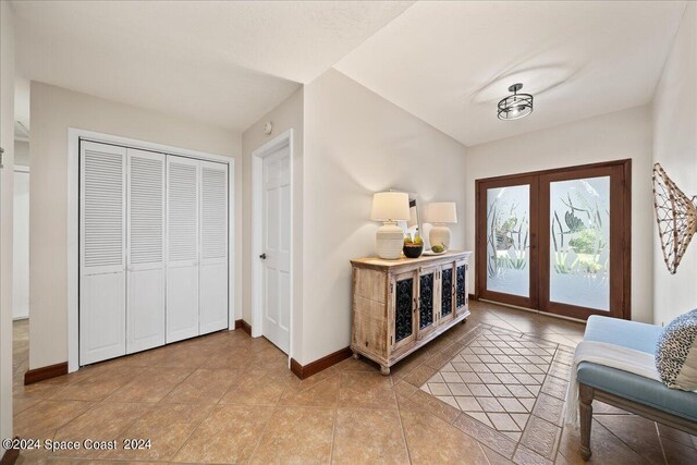
[[[175,97],[173,97],[175,98]],[[29,368],[68,359],[68,129],[234,157],[240,237],[241,135],[68,89],[32,83]],[[240,242],[235,244],[240,256]],[[240,276],[240,260],[235,276]],[[235,283],[240,293],[239,282]]]

